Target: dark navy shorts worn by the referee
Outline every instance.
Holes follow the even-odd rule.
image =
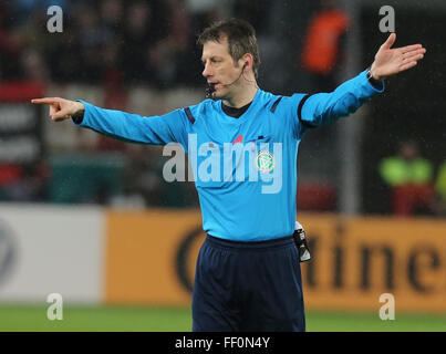
[[[207,236],[197,260],[193,331],[305,331],[292,237],[235,242]]]

